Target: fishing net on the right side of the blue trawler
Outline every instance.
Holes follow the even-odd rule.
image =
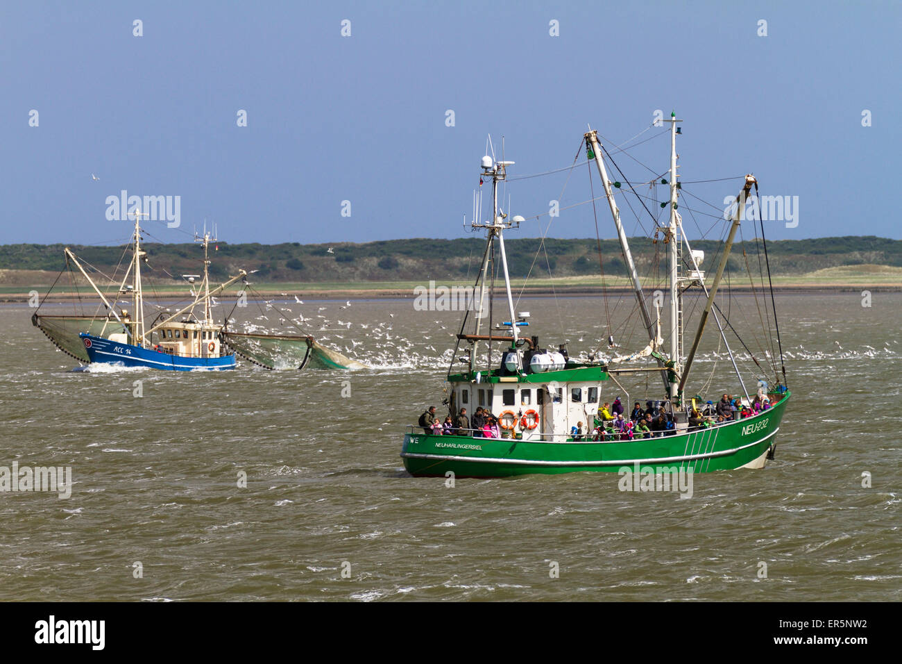
[[[365,369],[366,365],[332,351],[312,337],[296,334],[221,332],[238,355],[266,369]]]

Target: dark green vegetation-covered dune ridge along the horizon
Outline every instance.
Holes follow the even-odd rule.
[[[530,275],[530,283],[549,277],[598,278],[599,257],[594,239],[548,238],[543,245],[539,238],[508,238],[505,244],[511,277]],[[692,245],[704,250],[703,269],[713,272],[721,243],[695,240]],[[662,243],[634,238],[630,246],[643,275],[654,272],[657,260],[660,266],[665,265],[666,248]],[[63,247],[61,244],[0,245],[0,269],[57,272],[64,266]],[[220,242],[218,247],[211,252],[210,266],[210,274],[217,280],[244,268],[255,270],[252,278],[256,282],[325,286],[354,282],[423,283],[429,279],[463,283],[472,279],[479,269],[484,244],[483,238],[472,237],[317,245]],[[122,247],[71,245],[70,248],[107,274],[112,274],[123,257]],[[148,268],[143,274],[152,282],[175,285],[179,275],[197,274],[200,269],[202,253],[197,244],[151,243],[143,248],[148,252]],[[742,248],[741,244],[733,248],[731,271],[745,269]],[[750,267],[757,271],[759,240],[747,240],[744,248]],[[902,267],[902,240],[874,236],[769,241],[768,252],[771,271],[779,276],[801,276],[837,267]],[[626,276],[616,239],[602,240],[602,259],[604,273],[613,282]]]

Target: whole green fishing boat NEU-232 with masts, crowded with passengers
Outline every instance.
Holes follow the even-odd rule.
[[[679,212],[682,182],[677,173],[676,136],[681,134],[677,126],[681,121],[672,115],[664,122],[670,123],[667,132],[670,135],[669,176],[651,184],[668,186],[667,200],[661,204],[661,209],[668,209],[668,214],[662,215],[660,220],[652,215],[655,237],[649,241],[663,240],[666,248],[668,297],[667,302],[656,298],[654,311],[649,307],[646,286],[621,223],[615,191],[622,193],[623,183],[611,182],[605,162],[611,162],[615,167],[616,164],[601,145],[597,131],[584,134],[587,161],[590,166],[594,163],[601,177],[604,194],[599,199],[606,200],[610,207],[620,240],[621,257],[636,298],[634,311],[638,311],[641,333],[647,337],[642,341],[644,347],[633,347],[633,351],[623,352],[622,347],[614,343],[610,322],[609,333],[604,335],[608,341],[607,351],[588,353],[579,359],[569,357],[566,342],[549,348],[543,347],[538,336],[524,335],[530,314],[515,311],[503,238],[504,231],[518,228],[523,218],[517,216],[509,220],[498,207],[498,186],[506,180],[507,168],[513,162],[496,162],[492,156],[483,157],[481,182],[482,179],[492,180],[492,219],[480,220],[477,196],[471,225],[474,229],[485,230],[487,240],[482,267],[474,285],[474,305],[464,314],[446,377],[443,403],[453,423],[441,429],[425,426],[431,423],[421,418],[419,426],[408,428],[400,454],[408,472],[417,476],[453,473],[458,477],[620,472],[624,468],[652,473],[713,472],[763,468],[774,458],[777,434],[791,395],[787,388],[777,309],[769,277],[767,283],[761,285],[762,296],[769,290],[767,304],[769,312],[773,312],[772,323],[776,328],[776,334],[770,338],[776,338],[778,351],[775,349],[763,357],[756,357],[723,309],[715,303],[741,220],[753,217],[746,214],[746,205],[753,196],[752,187],[757,196],[758,182],[752,175],[744,176],[741,191],[724,215],[729,229],[719,249],[717,269],[709,285],[701,269],[704,253],[689,246]],[[630,189],[635,193],[631,184]],[[753,205],[750,207],[754,208]],[[763,240],[763,224],[760,233]],[[766,263],[767,244],[762,244],[765,251],[762,260]],[[496,257],[500,260],[496,261]],[[497,273],[503,278],[502,297],[505,300],[497,308],[492,304],[496,272],[492,266],[496,263]],[[763,275],[761,279],[763,282]],[[683,300],[690,289],[695,291],[696,302],[704,302],[704,309],[698,316],[691,348],[685,352]],[[758,304],[757,291],[755,297]],[[502,320],[492,320],[499,310],[504,312]],[[504,317],[508,320],[503,320]],[[662,317],[667,318],[663,326],[667,343],[662,332]],[[708,324],[709,318],[715,325]],[[770,313],[767,318],[770,323]],[[724,397],[718,395],[723,403],[716,406],[713,399],[707,400],[690,392],[686,382],[706,328],[714,327],[720,334],[736,378],[734,384],[724,386]],[[751,361],[751,376],[743,377],[737,354],[730,347],[728,332],[748,351],[740,360]],[[605,353],[611,357],[605,357]],[[458,367],[459,364],[464,366]],[[621,381],[637,376],[653,377],[656,382],[659,376],[662,391],[650,398],[646,394],[646,409],[639,407],[640,412],[634,411],[629,420],[618,416],[612,425],[611,415],[603,407],[604,399],[611,398],[607,395],[626,394],[629,404],[629,395]],[[750,380],[754,380],[756,386],[751,391],[747,388]],[[741,397],[726,398],[730,391]],[[486,416],[478,422],[474,421],[475,417],[471,419],[472,411],[477,408],[493,414],[496,425],[491,424],[492,416],[487,416],[488,424],[485,424]],[[645,424],[649,422],[655,426]]]

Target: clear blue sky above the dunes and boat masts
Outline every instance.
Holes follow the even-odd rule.
[[[163,241],[205,218],[229,242],[462,237],[487,135],[499,156],[504,136],[511,176],[542,173],[573,163],[587,123],[619,144],[656,109],[685,120],[686,182],[754,173],[762,194],[798,197],[796,228],[768,222],[768,238],[902,238],[900,25],[896,2],[5,3],[0,242],[123,240],[128,224],[106,219],[122,190],[180,197],[179,229],[145,224]],[[659,136],[635,155],[660,172],[668,151]],[[512,210],[585,201],[588,178],[511,182]],[[738,189],[690,191],[721,205]],[[594,237],[592,206],[548,234]]]

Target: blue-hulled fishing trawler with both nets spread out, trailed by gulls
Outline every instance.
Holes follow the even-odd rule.
[[[135,217],[134,235],[129,240],[132,259],[121,280],[117,276],[106,277],[109,282],[104,285],[106,295],[104,289],[92,278],[92,275],[105,275],[87,262],[79,260],[68,247],[65,248],[66,267],[72,276],[76,293],[78,294],[78,286],[73,267],[78,269],[87,284],[94,289],[100,298],[100,304],[94,315],[41,313],[39,305],[38,310],[32,314],[32,324],[46,334],[60,351],[89,364],[169,371],[235,369],[236,356],[264,369],[303,369],[305,366],[316,369],[364,368],[361,362],[322,346],[300,329],[300,334],[240,332],[226,329],[226,320],[222,324],[216,323],[210,310],[211,304],[216,305],[214,297],[238,281],[242,282],[244,292],[254,293],[247,281],[247,276],[253,274],[253,271],[248,273],[238,270],[237,276],[211,288],[209,244],[215,243],[217,239],[215,232],[207,232],[206,226],[202,236],[195,234],[195,241],[201,242],[204,248],[203,276],[182,275],[191,286],[192,299],[189,304],[171,313],[169,308],[148,303],[151,311],[156,307],[157,313],[150,323],[146,323],[141,269],[147,261],[147,254],[141,248],[142,229],[139,225],[140,218],[146,215],[140,210],[134,210],[129,214],[132,215]],[[59,278],[57,277],[58,281]],[[256,296],[263,299],[259,293]],[[78,301],[80,304],[80,295]],[[126,309],[124,305],[131,306]],[[277,309],[283,316],[282,320],[295,324],[290,321],[289,313],[282,312],[274,304],[266,305],[267,308]]]

